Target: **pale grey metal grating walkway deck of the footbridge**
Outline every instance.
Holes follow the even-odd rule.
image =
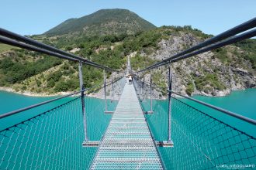
[[[133,85],[126,83],[91,169],[163,169]]]

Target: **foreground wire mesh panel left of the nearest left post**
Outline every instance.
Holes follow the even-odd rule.
[[[83,138],[81,100],[78,97],[1,131],[0,168],[86,167],[93,150],[86,148],[88,151],[85,151],[81,147]]]

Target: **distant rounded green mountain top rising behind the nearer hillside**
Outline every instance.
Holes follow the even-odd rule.
[[[44,34],[47,36],[84,32],[86,35],[134,34],[154,29],[150,22],[126,9],[102,9],[79,19],[67,19]]]

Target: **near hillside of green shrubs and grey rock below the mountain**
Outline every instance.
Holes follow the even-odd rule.
[[[118,70],[126,68],[126,59],[130,56],[133,70],[140,70],[211,37],[191,26],[163,26],[102,35],[76,31],[30,38]],[[172,64],[172,69],[174,90],[188,95],[222,96],[230,90],[255,87],[256,39],[193,56]],[[83,74],[86,87],[102,82],[102,70],[85,66]],[[166,87],[167,69],[154,70],[153,80]],[[0,87],[51,94],[78,90],[78,86],[78,63],[0,44]],[[161,94],[154,93],[154,96],[161,97]]]

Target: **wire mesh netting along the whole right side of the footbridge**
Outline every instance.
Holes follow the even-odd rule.
[[[150,110],[149,87],[137,93],[144,110]],[[144,90],[146,89],[146,90]],[[156,90],[156,89],[154,89]],[[142,95],[141,95],[142,94]],[[153,100],[153,115],[147,115],[150,130],[157,141],[168,137],[168,101]],[[229,117],[229,119],[235,119]],[[243,122],[244,123],[244,122]],[[245,122],[246,123],[246,122]],[[248,125],[248,124],[247,124]],[[251,125],[251,124],[249,124]],[[173,148],[158,148],[168,169],[215,169],[253,167],[256,162],[256,140],[251,134],[219,121],[186,104],[184,100],[171,99],[171,139]],[[255,130],[255,127],[254,127]]]

